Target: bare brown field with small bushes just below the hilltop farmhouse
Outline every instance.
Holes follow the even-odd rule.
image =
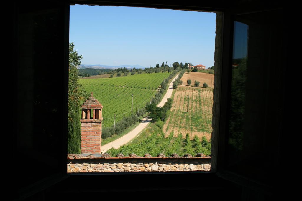
[[[191,86],[194,86],[194,80],[197,80],[200,82],[199,86],[202,86],[202,84],[205,82],[208,84],[208,88],[211,88],[211,80],[212,80],[212,89],[214,88],[214,75],[208,74],[208,73],[199,73],[199,72],[190,72],[185,73],[182,78],[182,84],[187,85],[187,80],[191,80]]]

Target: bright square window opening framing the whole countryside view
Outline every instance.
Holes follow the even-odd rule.
[[[75,147],[69,159],[203,157],[205,164],[189,167],[185,161],[176,170],[209,170],[215,18],[193,11],[70,6],[69,102],[74,93],[77,99],[69,107],[68,147]],[[73,166],[69,172],[92,168]],[[147,166],[108,169],[156,169]],[[173,169],[163,166],[157,168]]]

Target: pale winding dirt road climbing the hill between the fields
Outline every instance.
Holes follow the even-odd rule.
[[[173,83],[174,83],[175,79],[178,78],[178,75],[179,75],[179,73],[171,81],[169,88],[167,90],[167,93],[162,98],[162,101],[157,105],[157,107],[162,107],[163,105],[165,105],[165,102],[167,102],[167,99],[172,96]],[[127,144],[128,142],[130,142],[130,140],[132,140],[134,137],[139,135],[142,132],[142,130],[144,128],[146,128],[146,126],[149,124],[149,122],[151,120],[152,119],[149,119],[149,118],[143,118],[143,120],[140,122],[140,124],[137,127],[135,127],[132,131],[130,131],[129,133],[118,138],[117,140],[114,140],[108,144],[105,144],[104,146],[101,146],[101,153],[104,153],[108,149],[111,149],[111,148],[118,149],[118,148],[120,148],[120,146]]]

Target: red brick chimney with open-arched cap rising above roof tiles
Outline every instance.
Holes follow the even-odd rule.
[[[89,97],[82,105],[81,118],[81,152],[101,153],[102,141],[102,104],[93,97]],[[92,117],[90,112],[92,110]]]

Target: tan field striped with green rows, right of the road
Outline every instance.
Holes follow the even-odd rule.
[[[200,139],[205,136],[207,140],[210,140],[212,107],[213,89],[178,86],[174,94],[171,113],[163,126],[165,136],[173,132],[175,137],[178,133],[182,133],[185,137],[186,133],[189,133],[191,140],[195,135]]]

